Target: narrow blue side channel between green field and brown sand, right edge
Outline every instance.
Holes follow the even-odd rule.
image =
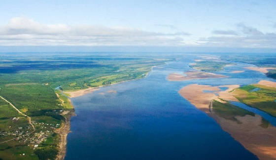
[[[258,110],[256,108],[253,107],[249,107],[241,102],[231,102],[231,104],[241,107],[247,111],[253,112],[254,114],[260,115],[262,116],[264,119],[268,120],[272,125],[276,126],[276,117],[273,117],[267,113],[265,113],[264,111]]]

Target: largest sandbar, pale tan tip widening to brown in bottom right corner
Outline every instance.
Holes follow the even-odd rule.
[[[219,91],[218,87],[228,87],[225,91]],[[276,127],[269,126],[264,128],[260,126],[262,118],[258,115],[244,117],[237,116],[236,121],[226,120],[216,115],[211,109],[211,102],[213,99],[219,100],[218,97],[225,100],[235,100],[232,95],[232,90],[239,87],[239,85],[222,85],[209,86],[190,84],[184,86],[179,93],[186,98],[191,104],[195,105],[201,111],[207,113],[210,117],[215,119],[233,138],[239,141],[247,150],[255,154],[261,160],[275,160],[276,159]],[[205,93],[204,90],[210,90],[218,93]],[[236,99],[237,100],[237,99]]]

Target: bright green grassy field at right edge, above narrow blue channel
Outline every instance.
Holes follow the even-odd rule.
[[[259,90],[252,91],[255,88],[259,88]],[[245,85],[234,90],[233,94],[242,103],[276,117],[275,87],[259,84]]]

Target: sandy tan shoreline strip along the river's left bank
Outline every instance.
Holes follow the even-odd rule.
[[[156,66],[153,66],[151,67],[151,70],[149,72],[152,71],[152,69],[156,67]],[[145,74],[145,77],[143,78],[139,78],[139,79],[133,79],[133,80],[141,80],[141,79],[144,79],[144,78],[147,78],[149,72],[147,72]],[[125,81],[121,81],[121,82],[116,82],[116,83],[112,83],[112,84],[109,84],[109,85],[114,85],[114,84],[119,84],[119,83],[123,83],[123,82],[127,82],[127,81],[133,81],[133,80],[125,80]],[[96,90],[99,90],[101,87],[105,87],[105,86],[109,86],[109,85],[103,85],[103,86],[98,86],[98,87],[91,87],[91,88],[86,88],[86,89],[80,89],[80,90],[76,90],[76,91],[65,91],[65,93],[67,94],[74,94],[74,96],[69,96],[69,100],[70,98],[74,98],[74,97],[79,97],[79,96],[83,96],[85,94],[88,94],[88,93],[92,93]],[[70,101],[71,103],[71,101]],[[72,105],[73,106],[73,105]],[[74,108],[74,106],[73,106]],[[60,142],[59,142],[59,152],[56,156],[56,160],[64,160],[65,157],[66,157],[66,153],[67,153],[67,136],[68,136],[68,133],[70,133],[70,119],[72,116],[75,116],[75,112],[74,112],[74,109],[71,110],[71,111],[64,111],[62,113],[62,115],[64,116],[65,118],[65,122],[62,122],[62,126],[58,129],[55,130],[55,133],[59,134],[60,136]]]

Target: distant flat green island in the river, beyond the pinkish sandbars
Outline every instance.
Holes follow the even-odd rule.
[[[189,66],[191,68],[201,70],[204,72],[215,72],[221,71],[226,65],[232,65],[233,63],[228,63],[218,60],[200,60],[198,62],[192,63]]]

